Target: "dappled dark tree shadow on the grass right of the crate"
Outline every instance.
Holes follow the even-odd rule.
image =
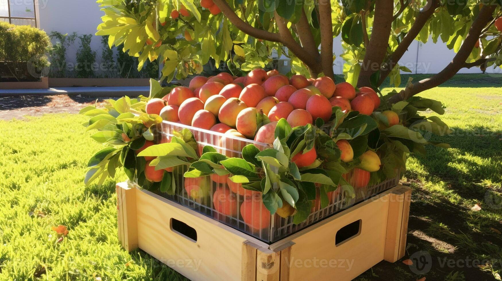
[[[425,180],[433,184],[444,182],[445,185],[438,185],[438,188],[444,190],[423,188],[422,182],[416,179],[419,175],[413,171],[406,173],[408,181],[403,183],[414,187],[414,192],[408,224],[408,249],[402,260],[423,259],[421,253],[424,252],[420,251],[425,251],[430,259],[430,270],[413,271],[412,267],[417,265],[416,260],[413,266],[404,264],[402,260],[396,263],[383,261],[364,272],[359,279],[417,280],[426,276],[427,279],[444,280],[449,278],[448,274],[458,271],[465,280],[493,280],[492,274],[482,271],[473,264],[472,259],[483,255],[486,259],[499,258],[497,252],[502,241],[489,227],[500,229],[502,222],[489,213],[500,214],[502,209],[490,208],[484,202],[481,205],[487,214],[483,217],[481,213],[472,213],[465,206],[448,201],[445,196],[452,192],[464,200],[483,202],[491,187],[483,186],[482,183],[499,185],[501,182],[502,142],[499,132],[483,126],[452,129],[455,133],[450,136],[434,136],[431,139],[449,143],[452,149],[429,146],[426,156],[414,156],[421,169],[425,170]],[[487,159],[490,161],[486,161]],[[471,244],[469,241],[472,241]],[[460,263],[456,263],[457,261]],[[481,262],[481,265],[484,264]],[[499,266],[500,264],[494,264],[495,270]]]

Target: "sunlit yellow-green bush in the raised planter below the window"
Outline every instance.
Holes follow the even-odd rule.
[[[45,53],[51,42],[43,30],[0,22],[0,61],[2,76],[33,80],[43,76],[49,66]]]

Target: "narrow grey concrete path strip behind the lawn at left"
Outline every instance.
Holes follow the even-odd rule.
[[[80,95],[95,97],[135,97],[139,95],[147,96],[150,87],[57,87],[49,89],[12,89],[0,90],[0,97],[23,96],[23,95]]]

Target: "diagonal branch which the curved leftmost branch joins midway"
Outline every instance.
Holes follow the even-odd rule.
[[[284,44],[289,51],[293,52],[293,54],[295,54],[295,56],[305,63],[305,65],[307,65],[307,67],[309,67],[312,71],[317,73],[321,72],[319,62],[295,41],[287,27],[286,20],[279,16],[277,12],[274,12],[274,17],[276,19],[277,28],[279,29],[280,40],[278,42]]]

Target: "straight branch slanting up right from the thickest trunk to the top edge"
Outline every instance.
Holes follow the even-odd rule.
[[[401,59],[401,57],[403,57],[406,51],[408,51],[408,47],[410,47],[413,40],[417,38],[422,28],[425,26],[429,18],[432,16],[432,14],[434,14],[434,11],[436,11],[438,7],[439,7],[438,0],[427,0],[427,4],[415,18],[413,26],[410,28],[410,30],[403,38],[401,43],[399,43],[398,48],[396,48],[394,53],[392,53],[391,58],[380,70],[379,86],[384,82],[385,78],[389,76],[389,73],[391,73],[391,71],[394,69],[398,61]]]

